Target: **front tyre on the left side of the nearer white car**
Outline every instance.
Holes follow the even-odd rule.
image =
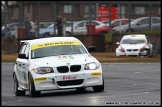
[[[37,97],[41,94],[41,91],[35,91],[35,86],[33,82],[33,78],[30,75],[29,76],[29,95],[30,97]]]

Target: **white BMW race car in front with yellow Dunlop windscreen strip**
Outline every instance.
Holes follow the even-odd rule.
[[[94,47],[89,48],[93,50]],[[13,79],[16,96],[29,91],[34,97],[41,91],[68,88],[104,90],[100,62],[74,37],[25,41],[16,59]]]

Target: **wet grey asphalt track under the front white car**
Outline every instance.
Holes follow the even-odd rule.
[[[1,64],[2,106],[159,106],[161,105],[160,63],[103,63],[105,90],[91,87],[77,93],[75,89],[44,91],[40,97],[15,96],[13,63]]]

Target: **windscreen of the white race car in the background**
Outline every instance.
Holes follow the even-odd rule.
[[[121,41],[121,44],[140,44],[140,43],[146,43],[145,39],[123,39]]]

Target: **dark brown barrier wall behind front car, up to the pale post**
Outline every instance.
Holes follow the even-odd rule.
[[[104,36],[77,35],[74,37],[81,40],[86,48],[95,46],[97,52],[105,52]],[[20,50],[20,40],[24,39],[1,39],[1,48],[6,54],[17,53]]]

